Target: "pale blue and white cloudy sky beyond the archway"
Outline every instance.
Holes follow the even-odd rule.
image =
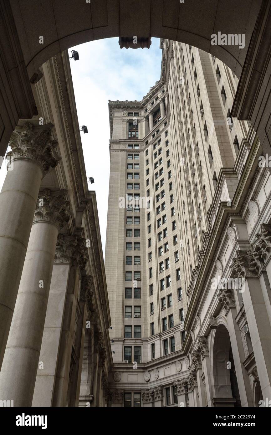
[[[150,49],[122,48],[118,38],[109,38],[70,48],[79,60],[70,60],[87,177],[94,178],[89,190],[96,191],[100,233],[105,250],[108,184],[110,174],[110,124],[108,100],[140,101],[161,74],[160,40],[152,38]],[[0,189],[6,175],[0,170]]]

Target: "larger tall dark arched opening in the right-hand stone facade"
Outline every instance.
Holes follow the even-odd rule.
[[[213,350],[214,406],[241,406],[228,329],[219,325]]]

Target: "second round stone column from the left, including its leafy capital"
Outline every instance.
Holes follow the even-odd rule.
[[[70,218],[65,195],[44,189],[37,201],[0,372],[0,399],[12,397],[14,406],[32,404],[57,234]]]

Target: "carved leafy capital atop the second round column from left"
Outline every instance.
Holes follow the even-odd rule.
[[[33,223],[46,221],[57,225],[59,229],[70,219],[69,201],[66,200],[67,190],[51,192],[43,189],[37,199]]]

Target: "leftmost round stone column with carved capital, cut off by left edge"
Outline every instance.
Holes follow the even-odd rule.
[[[40,182],[59,157],[54,156],[52,124],[16,127],[10,139],[13,169],[0,193],[0,368],[27,251]]]

